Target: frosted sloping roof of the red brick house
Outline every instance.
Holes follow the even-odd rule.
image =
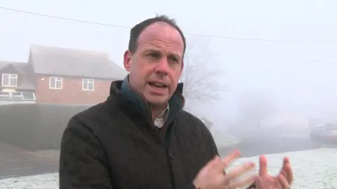
[[[127,75],[106,52],[31,45],[29,58],[39,74],[106,79]]]

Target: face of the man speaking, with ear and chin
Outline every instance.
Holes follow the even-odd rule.
[[[164,22],[155,22],[140,34],[133,55],[124,53],[129,83],[152,106],[166,106],[183,71],[183,38]]]

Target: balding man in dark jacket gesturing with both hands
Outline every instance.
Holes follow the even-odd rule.
[[[60,188],[289,188],[289,160],[277,177],[238,179],[253,162],[224,169],[239,157],[220,160],[211,133],[183,111],[183,32],[166,16],[131,29],[124,67],[129,75],[112,82],[107,101],[74,116],[62,136]],[[262,170],[262,172],[261,172]]]

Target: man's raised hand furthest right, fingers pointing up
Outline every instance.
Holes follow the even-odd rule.
[[[289,158],[284,158],[281,172],[277,176],[270,176],[267,172],[267,158],[260,156],[260,171],[256,180],[256,189],[289,189],[293,182],[293,171]]]

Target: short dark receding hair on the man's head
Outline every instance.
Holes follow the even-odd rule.
[[[138,45],[138,37],[142,33],[142,31],[147,28],[148,26],[152,25],[154,22],[165,22],[168,25],[171,25],[171,27],[174,27],[178,30],[181,38],[183,38],[184,43],[184,50],[183,55],[185,54],[186,50],[186,39],[183,34],[183,31],[181,31],[180,27],[176,24],[176,20],[169,18],[166,15],[157,15],[154,18],[149,18],[147,20],[143,20],[143,22],[138,23],[138,25],[134,26],[130,31],[130,40],[128,41],[128,50],[131,53],[136,52],[137,45]]]

